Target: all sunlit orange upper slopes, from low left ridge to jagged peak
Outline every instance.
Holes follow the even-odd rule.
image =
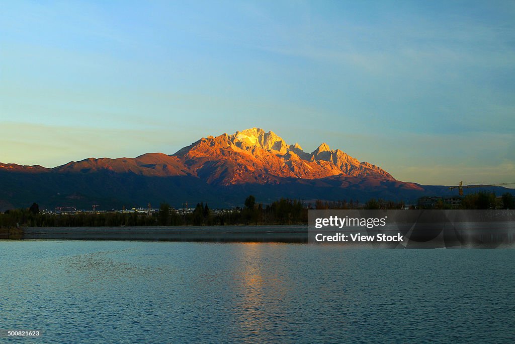
[[[0,165],[2,170],[38,171],[38,167]],[[46,170],[45,170],[46,171]],[[50,171],[50,169],[48,169]],[[287,144],[280,136],[261,128],[232,135],[208,136],[175,154],[147,153],[136,158],[88,158],[71,161],[52,171],[90,174],[99,171],[155,177],[194,177],[213,185],[282,184],[294,179],[350,177],[395,181],[388,172],[360,162],[322,143],[304,152],[299,143]]]

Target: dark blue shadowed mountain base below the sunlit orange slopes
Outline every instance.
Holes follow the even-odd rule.
[[[122,209],[158,207],[168,202],[181,207],[184,202],[194,206],[209,203],[211,208],[242,206],[249,194],[265,204],[283,198],[303,200],[354,200],[370,198],[416,202],[421,195],[451,195],[455,192],[444,186],[419,186],[411,183],[380,181],[351,177],[324,179],[284,178],[278,184],[212,185],[194,176],[149,177],[133,173],[99,171],[95,173],[24,173],[0,172],[0,210],[28,207],[37,202],[42,209],[70,206],[77,209]],[[492,187],[501,194],[507,189]],[[472,191],[469,191],[472,192]]]

